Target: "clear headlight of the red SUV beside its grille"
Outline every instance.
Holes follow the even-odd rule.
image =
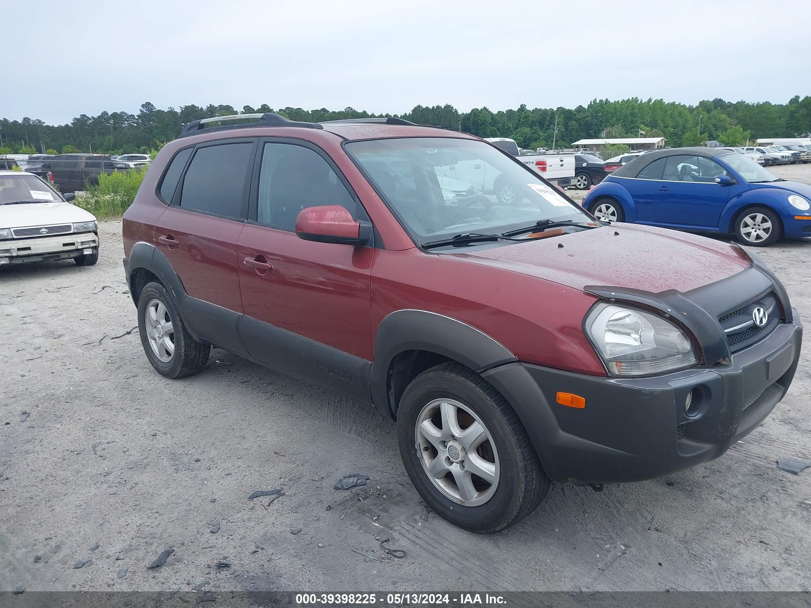
[[[661,374],[698,362],[684,332],[642,310],[599,304],[586,318],[586,332],[611,375]]]

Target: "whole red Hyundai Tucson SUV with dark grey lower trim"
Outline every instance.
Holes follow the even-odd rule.
[[[757,255],[595,221],[482,139],[398,118],[192,122],[123,234],[155,370],[195,374],[215,346],[374,406],[423,499],[476,532],[550,482],[721,456],[800,357]]]

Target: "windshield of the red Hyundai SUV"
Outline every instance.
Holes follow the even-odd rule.
[[[592,221],[534,171],[481,141],[373,139],[345,149],[420,245],[542,220]]]

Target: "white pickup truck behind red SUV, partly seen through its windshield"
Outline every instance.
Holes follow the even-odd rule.
[[[573,154],[521,154],[515,139],[507,137],[485,138],[497,148],[511,154],[539,175],[558,186],[569,186],[574,179]],[[488,171],[488,169],[491,169]],[[500,203],[513,203],[518,192],[517,184],[501,177],[501,172],[482,161],[459,161],[456,165],[442,168],[448,177],[470,182],[478,191],[494,192]]]

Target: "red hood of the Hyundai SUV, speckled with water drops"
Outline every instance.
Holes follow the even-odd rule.
[[[731,243],[631,224],[442,255],[537,276],[574,289],[605,285],[651,293],[689,291],[751,265],[744,251]]]

